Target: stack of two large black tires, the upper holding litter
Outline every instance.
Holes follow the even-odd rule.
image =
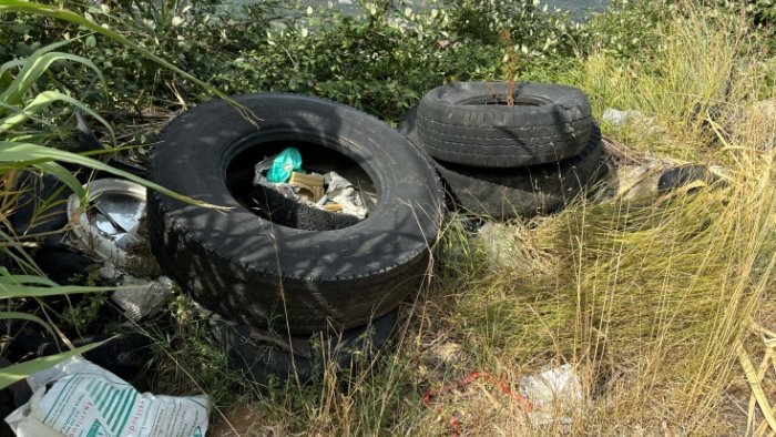
[[[305,224],[286,220],[309,215],[287,202],[244,199],[254,165],[287,145],[360,167],[377,193],[367,218],[343,226],[318,214]],[[232,364],[262,385],[312,378],[321,357],[310,338],[323,338],[343,369],[382,347],[397,306],[427,276],[443,211],[438,174],[406,138],[353,108],[296,94],[237,95],[185,112],[161,133],[149,175],[226,207],[150,191],[149,238],[164,273],[215,313]]]

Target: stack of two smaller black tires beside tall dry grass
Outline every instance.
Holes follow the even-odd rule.
[[[571,87],[453,82],[428,92],[398,130],[457,205],[499,220],[558,211],[606,173],[590,102]]]

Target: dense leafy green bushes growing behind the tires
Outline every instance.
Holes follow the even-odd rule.
[[[568,64],[578,39],[584,40],[583,27],[568,16],[527,1],[430,1],[416,9],[404,2],[359,1],[347,13],[333,6],[303,9],[289,3],[265,1],[228,10],[217,1],[126,1],[75,11],[227,93],[308,93],[388,120],[400,118],[446,80],[508,79],[498,37],[503,29],[521,55],[520,78],[557,79],[553,62]],[[133,55],[121,41],[48,20],[35,26],[39,20],[16,16],[0,30],[0,40],[28,41],[8,55],[23,54],[34,41],[62,33],[81,35],[74,47],[105,72],[113,103],[175,109],[213,94],[180,72]]]

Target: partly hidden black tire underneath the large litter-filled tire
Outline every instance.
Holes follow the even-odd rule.
[[[211,327],[216,339],[227,349],[229,367],[243,372],[251,380],[267,386],[270,378],[310,382],[321,373],[324,358],[334,362],[340,373],[355,370],[360,359],[370,358],[382,350],[398,323],[398,309],[394,309],[365,326],[347,329],[325,337],[325,349],[315,347],[310,337],[296,337],[312,352],[309,355],[292,353],[278,345],[253,338],[247,325],[214,317]],[[317,338],[317,336],[314,336]]]

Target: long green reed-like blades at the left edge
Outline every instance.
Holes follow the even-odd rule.
[[[9,1],[6,3],[16,2]],[[6,3],[0,3],[0,11],[2,8],[8,7]],[[34,8],[34,3],[24,3],[20,8]],[[81,109],[83,112],[91,114],[100,120],[111,134],[113,132],[110,124],[88,105],[65,94],[62,90],[47,89],[48,85],[51,85],[51,82],[41,80],[50,72],[54,63],[83,65],[92,70],[101,79],[101,71],[91,61],[78,55],[54,51],[65,43],[58,42],[42,47],[29,57],[7,61],[0,65],[0,77],[2,78],[2,83],[0,83],[0,180],[2,181],[3,190],[3,222],[6,222],[6,212],[12,211],[14,209],[13,204],[18,200],[14,179],[20,172],[33,171],[51,174],[60,179],[74,193],[81,196],[85,195],[76,177],[57,161],[102,170],[170,193],[180,199],[187,199],[133,174],[114,170],[95,159],[58,150],[49,145],[54,144],[58,138],[57,135],[42,132],[41,128],[55,125],[55,123],[61,121],[63,114],[67,114],[67,110],[72,108]],[[64,110],[55,104],[62,102],[65,103]],[[55,325],[55,322],[61,321],[52,323],[51,319],[44,321],[33,314],[16,311],[19,301],[37,302],[42,308],[45,308],[45,297],[114,289],[114,287],[62,286],[48,280],[28,255],[25,247],[14,235],[13,231],[7,233],[6,230],[7,223],[3,223],[3,230],[0,231],[0,241],[2,242],[0,244],[0,255],[2,255],[3,261],[3,266],[0,267],[0,299],[8,303],[8,307],[11,311],[0,313],[0,319],[22,319],[38,323],[43,325],[47,331],[61,335]],[[101,297],[91,301],[86,299],[84,301],[85,305],[65,311],[64,322],[70,322],[76,329],[88,325],[95,317],[101,299]],[[28,376],[29,372],[40,370],[72,356],[74,353],[85,352],[91,347],[3,368],[0,373],[0,388]]]

